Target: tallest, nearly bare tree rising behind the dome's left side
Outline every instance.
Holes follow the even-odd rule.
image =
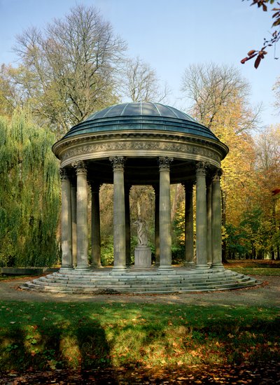
[[[28,90],[34,111],[65,132],[116,102],[125,49],[96,8],[77,6],[42,31],[32,27],[18,36],[15,52],[25,71],[15,80]]]

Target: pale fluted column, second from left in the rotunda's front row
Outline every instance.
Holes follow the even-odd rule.
[[[82,160],[73,163],[77,175],[77,267],[88,269],[87,169]]]

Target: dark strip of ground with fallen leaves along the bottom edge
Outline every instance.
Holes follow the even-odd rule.
[[[191,365],[174,369],[99,368],[85,370],[53,370],[51,372],[10,372],[2,374],[2,385],[85,385],[85,384],[279,384],[280,363],[249,365]]]

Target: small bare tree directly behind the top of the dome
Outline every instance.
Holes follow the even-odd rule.
[[[169,87],[160,86],[160,80],[150,64],[139,57],[127,59],[120,81],[120,92],[132,102],[163,102],[169,94]]]

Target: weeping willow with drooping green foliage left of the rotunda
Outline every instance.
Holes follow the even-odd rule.
[[[58,164],[55,135],[31,122],[27,111],[0,116],[0,265],[57,262]]]

